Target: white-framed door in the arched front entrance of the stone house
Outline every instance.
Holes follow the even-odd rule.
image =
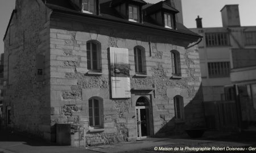
[[[150,137],[150,107],[136,107],[137,139]]]

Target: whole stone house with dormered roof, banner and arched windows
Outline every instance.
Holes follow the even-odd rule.
[[[68,124],[85,128],[88,145],[204,126],[201,36],[176,22],[173,2],[16,0],[6,126],[56,142]]]

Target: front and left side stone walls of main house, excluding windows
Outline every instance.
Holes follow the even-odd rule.
[[[51,12],[42,2],[18,2],[17,14],[22,10],[26,12],[27,6],[30,6],[30,12],[38,8],[42,11],[22,12],[27,24],[17,24],[20,26],[15,35],[19,46],[9,46],[9,35],[5,38],[6,80],[10,75],[7,75],[10,65],[7,57],[16,55],[15,66],[9,71],[15,75],[15,82],[5,87],[5,105],[12,108],[13,128],[55,142],[55,125],[72,124],[85,128],[88,145],[133,141],[137,139],[136,101],[139,97],[145,97],[150,103],[151,137],[204,126],[197,46],[185,49],[184,39],[166,32]],[[18,17],[16,22],[24,23],[24,18]],[[23,35],[23,31],[27,35]],[[97,74],[88,73],[86,43],[91,40],[100,44],[102,72]],[[142,77],[135,76],[135,46],[145,50],[147,75]],[[129,49],[130,99],[112,99],[110,96],[110,47]],[[172,78],[171,50],[180,53],[179,79]],[[44,55],[43,82],[36,81],[36,54]],[[175,118],[176,95],[184,99],[182,121]],[[92,97],[103,102],[100,130],[88,128],[88,101]],[[72,145],[77,145],[82,138],[75,132],[72,140]]]

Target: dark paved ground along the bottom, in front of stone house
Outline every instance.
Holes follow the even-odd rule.
[[[168,138],[147,138],[137,142],[121,142],[113,145],[77,148],[56,146],[43,141],[24,137],[8,131],[0,131],[0,153],[57,153],[57,152],[162,152],[155,147],[249,147],[256,146],[254,133],[220,133],[207,132],[203,138],[191,139],[186,134]],[[179,151],[175,151],[176,153]],[[186,151],[189,152],[189,151]]]

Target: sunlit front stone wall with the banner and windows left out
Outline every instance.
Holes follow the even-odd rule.
[[[103,101],[103,130],[86,131],[89,145],[130,141],[137,138],[135,103],[140,96],[151,103],[151,135],[182,132],[185,128],[204,126],[203,95],[197,46],[185,49],[182,39],[168,33],[154,32],[131,25],[104,23],[75,16],[51,16],[51,126],[57,123],[88,124],[88,100]],[[89,75],[86,42],[101,44],[102,74]],[[182,44],[182,43],[181,43]],[[131,99],[111,99],[109,47],[129,49]],[[147,76],[135,76],[134,47],[142,46],[146,55]],[[172,79],[171,50],[181,59],[181,79]],[[150,88],[154,90],[141,90]],[[184,98],[184,121],[174,116],[174,96]],[[73,111],[67,113],[67,108]],[[75,108],[75,109],[74,109]],[[73,121],[72,121],[73,120]]]

